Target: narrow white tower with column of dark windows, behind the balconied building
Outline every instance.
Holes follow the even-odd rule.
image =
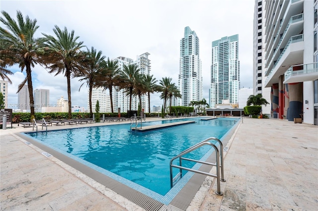
[[[253,93],[252,95],[261,94],[267,102],[270,102],[270,88],[265,88],[263,77],[264,68],[264,0],[255,0],[254,6],[254,24],[253,24]],[[271,107],[262,106],[263,115],[270,116]]]

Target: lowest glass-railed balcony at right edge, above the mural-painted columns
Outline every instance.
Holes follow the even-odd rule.
[[[318,79],[318,62],[291,66],[284,74],[284,84]]]

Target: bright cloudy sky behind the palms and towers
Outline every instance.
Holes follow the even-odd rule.
[[[74,30],[87,48],[92,46],[109,58],[136,59],[148,52],[153,74],[158,80],[171,77],[178,83],[180,39],[189,26],[200,40],[203,97],[208,100],[212,41],[239,34],[240,84],[252,88],[252,48],[254,0],[1,0],[1,10],[16,17],[16,10],[37,19],[36,37],[51,34],[55,25]],[[85,50],[85,49],[83,49]],[[25,71],[17,66],[8,87],[8,104],[17,103],[17,86]],[[42,66],[32,69],[33,89],[49,89],[50,103],[64,96],[63,75],[49,74]],[[72,79],[72,105],[87,108],[87,88]],[[151,96],[151,107],[161,106],[159,94]]]

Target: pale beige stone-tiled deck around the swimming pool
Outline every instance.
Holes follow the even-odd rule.
[[[158,120],[146,121],[150,119]],[[13,127],[0,130],[1,211],[143,210],[14,134],[32,131],[32,127]],[[207,177],[188,211],[317,210],[318,126],[245,117],[225,147],[223,196],[214,193],[216,182]]]

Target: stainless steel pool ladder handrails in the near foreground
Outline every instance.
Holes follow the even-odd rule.
[[[211,140],[215,140],[217,141],[219,144],[220,144],[220,151],[219,149],[217,148],[217,146],[209,141]],[[202,146],[205,146],[205,145],[209,145],[211,146],[212,148],[214,148],[215,150],[215,154],[216,154],[216,163],[211,163],[211,162],[205,162],[205,161],[201,161],[201,160],[195,160],[195,159],[190,159],[190,158],[183,158],[182,156],[202,147]],[[176,158],[179,158],[179,165],[174,165],[172,162],[173,160],[175,160]],[[202,163],[202,164],[207,164],[207,165],[213,165],[213,166],[216,166],[216,170],[217,170],[217,174],[211,174],[209,172],[204,172],[204,171],[200,171],[200,170],[195,170],[195,169],[192,169],[192,168],[187,168],[187,167],[183,167],[182,166],[182,160],[188,160],[188,161],[193,161],[193,162],[197,162],[197,163]],[[221,164],[220,164],[221,162]],[[175,167],[175,168],[179,168],[179,173],[173,178],[173,175],[172,175],[172,167]],[[171,158],[170,160],[170,186],[171,188],[173,187],[173,185],[179,181],[182,177],[182,169],[183,170],[187,170],[187,171],[192,171],[194,173],[199,173],[199,174],[204,174],[204,175],[207,175],[207,176],[212,176],[212,177],[216,177],[217,178],[217,190],[215,191],[215,193],[219,196],[222,196],[223,193],[221,192],[220,190],[220,181],[222,182],[226,182],[226,180],[224,179],[224,162],[223,162],[223,144],[222,142],[217,139],[217,138],[214,138],[214,137],[211,137],[211,138],[208,138],[196,145],[193,145],[192,147],[184,150],[183,152],[181,152],[179,155]],[[221,178],[220,178],[220,169],[221,169]]]

